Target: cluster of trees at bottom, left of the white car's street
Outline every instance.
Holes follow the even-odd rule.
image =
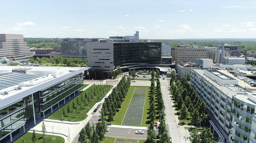
[[[100,141],[104,140],[106,129],[107,127],[104,120],[98,122],[96,127],[93,122],[91,124],[87,122],[86,126],[79,132],[78,141],[79,143],[87,143],[89,140],[90,143],[100,143]]]

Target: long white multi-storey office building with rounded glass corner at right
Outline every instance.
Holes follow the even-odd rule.
[[[215,69],[191,69],[190,79],[227,142],[255,143],[256,93]]]

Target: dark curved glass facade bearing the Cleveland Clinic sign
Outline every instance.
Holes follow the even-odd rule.
[[[114,67],[161,64],[161,42],[113,43]]]

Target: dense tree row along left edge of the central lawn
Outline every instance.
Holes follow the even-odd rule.
[[[105,115],[108,115],[108,122],[113,121],[114,115],[121,108],[121,103],[124,101],[126,93],[130,87],[130,78],[127,80],[123,76],[121,81],[113,88],[112,92],[106,98],[106,102],[103,103],[101,110],[102,120],[105,120]]]

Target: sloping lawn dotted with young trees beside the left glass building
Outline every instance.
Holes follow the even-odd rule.
[[[99,89],[99,87],[102,87],[103,91],[101,89]],[[93,106],[93,100],[90,98],[90,101],[89,101],[89,104],[88,104],[88,101],[85,101],[85,93],[87,93],[87,95],[91,97],[91,91],[94,92],[94,89],[96,91],[96,98],[94,98],[94,104],[97,102],[97,101],[101,101],[102,98],[105,97],[105,92],[104,92],[104,88],[108,88],[106,89],[106,93],[108,93],[108,91],[111,90],[113,86],[112,85],[92,85],[90,86],[89,88],[87,88],[85,91],[83,91],[82,93],[80,93],[78,96],[76,96],[74,99],[72,99],[71,101],[69,101],[68,103],[66,103],[64,106],[62,106],[59,110],[55,111],[54,113],[52,113],[47,119],[52,119],[52,120],[62,120],[62,114],[63,114],[63,108],[65,109],[65,112],[66,112],[66,117],[65,117],[65,121],[71,121],[72,122],[79,122],[79,121],[82,121],[86,118],[87,115],[85,115],[85,102],[86,102],[86,105],[87,105],[87,111],[89,111],[92,106]],[[93,93],[92,93],[93,94]],[[99,96],[97,96],[99,95]],[[84,101],[81,101],[81,96],[83,96],[84,98]],[[99,97],[99,99],[98,99]],[[77,98],[79,99],[79,105],[77,106]],[[72,106],[72,103],[75,103],[75,105],[77,106],[77,117],[76,116],[76,113],[75,112],[72,112],[73,111],[73,106]],[[81,105],[82,103],[82,105]],[[67,107],[70,107],[70,112],[69,113],[69,117],[68,117],[68,113],[67,113]],[[81,105],[81,110],[80,110],[80,105]],[[82,111],[82,113],[80,113]]]

